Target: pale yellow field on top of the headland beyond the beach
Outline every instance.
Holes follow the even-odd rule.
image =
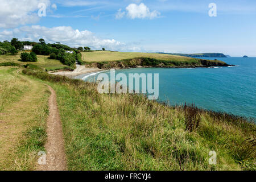
[[[163,53],[143,53],[143,52],[111,52],[111,51],[95,51],[95,52],[81,52],[82,60],[86,62],[94,61],[117,61],[123,59],[132,59],[135,57],[150,57],[159,60],[172,61],[189,61],[193,60],[191,57],[167,55]]]

